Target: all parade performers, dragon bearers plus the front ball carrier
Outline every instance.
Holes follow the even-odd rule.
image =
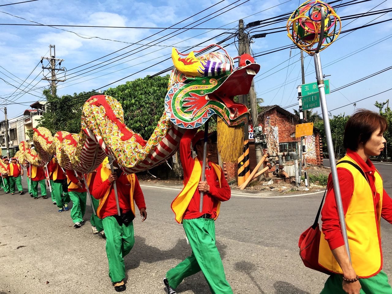
[[[392,223],[392,199],[383,189],[383,180],[370,161],[370,156],[377,156],[383,151],[386,142],[383,133],[386,130],[385,118],[368,110],[357,111],[346,124],[343,141],[347,153],[338,162],[338,176],[351,260],[345,250],[333,182],[329,176],[327,197],[321,211],[322,233],[315,237],[319,246],[312,247],[318,251],[311,254],[311,258],[318,259],[319,266],[323,268],[320,271],[330,274],[322,294],[392,294],[387,275],[382,270],[380,230],[381,217]],[[218,218],[221,201],[229,200],[231,192],[221,167],[209,160],[216,132],[208,134],[207,160],[205,167],[202,166],[204,139],[203,131],[189,129],[180,141],[184,187],[172,201],[171,208],[175,220],[183,224],[192,253],[167,271],[163,285],[168,294],[175,294],[184,278],[200,270],[212,294],[233,293],[216,248],[214,222]],[[5,158],[2,163],[3,170],[7,171],[2,174],[4,191],[15,194],[16,184],[19,193],[23,194],[22,167],[15,158],[11,160],[9,163]],[[75,228],[82,226],[86,198],[92,195],[91,202],[96,211],[96,215],[91,216],[93,234],[100,233],[106,237],[109,277],[114,289],[120,292],[125,290],[124,257],[135,241],[132,223],[136,216],[135,203],[142,221],[146,220],[147,212],[136,175],[125,174],[116,162],[113,165],[115,169],[111,172],[109,159],[105,158],[94,172],[82,174],[63,170],[53,158],[46,174],[42,167],[27,165],[27,181],[34,199],[38,196],[38,183],[42,198],[46,198],[46,176],[51,182],[52,200],[59,212],[67,211],[71,200],[71,218]],[[201,181],[202,169],[205,169],[205,181]],[[201,192],[204,196],[200,209]]]

